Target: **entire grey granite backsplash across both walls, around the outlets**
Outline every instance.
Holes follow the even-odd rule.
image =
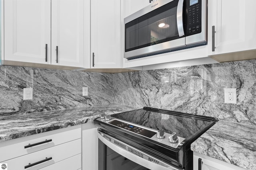
[[[224,88],[237,88],[237,104]],[[115,74],[0,66],[0,101],[0,115],[116,103],[256,125],[256,60]]]

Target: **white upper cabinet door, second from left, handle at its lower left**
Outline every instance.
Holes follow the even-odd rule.
[[[52,64],[84,66],[84,0],[52,0]]]

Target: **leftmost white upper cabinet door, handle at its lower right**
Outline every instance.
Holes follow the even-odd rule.
[[[50,64],[50,9],[51,0],[4,0],[4,60]]]

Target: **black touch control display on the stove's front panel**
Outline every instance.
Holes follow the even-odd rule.
[[[124,122],[118,121],[118,120],[113,120],[110,122],[110,124],[116,125],[118,127],[121,127],[122,129],[126,129],[128,131],[132,131],[134,133],[138,133],[140,135],[143,135],[143,136],[146,136],[149,138],[151,138],[152,136],[154,136],[156,134],[156,132],[149,131],[148,129],[142,129],[140,127],[136,127],[134,125],[130,125],[128,123],[124,123]]]

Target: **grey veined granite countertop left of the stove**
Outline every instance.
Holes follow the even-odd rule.
[[[88,123],[99,117],[102,113],[115,114],[135,109],[141,108],[119,104],[106,104],[1,116],[0,142]]]

